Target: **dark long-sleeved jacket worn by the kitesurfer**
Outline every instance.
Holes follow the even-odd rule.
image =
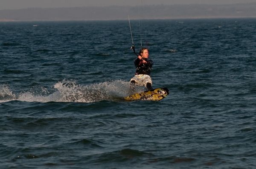
[[[147,63],[143,64],[143,60],[145,60]],[[136,66],[136,75],[139,75],[139,74],[145,74],[145,75],[149,75],[150,76],[150,70],[151,70],[151,67],[153,65],[153,61],[151,59],[148,59],[148,58],[142,58],[141,60],[137,57],[135,60],[134,60],[134,64]]]

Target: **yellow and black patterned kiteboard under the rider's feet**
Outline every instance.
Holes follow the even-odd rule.
[[[167,88],[156,88],[152,90],[147,90],[141,93],[135,93],[134,95],[127,96],[124,99],[126,101],[134,100],[152,100],[159,101],[169,95],[169,90]]]

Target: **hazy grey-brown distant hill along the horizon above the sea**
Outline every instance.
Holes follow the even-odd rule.
[[[139,11],[140,10],[140,11]],[[0,10],[0,21],[126,20],[256,17],[256,3],[233,5],[151,5]]]

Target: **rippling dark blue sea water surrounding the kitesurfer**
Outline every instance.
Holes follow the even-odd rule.
[[[256,19],[131,29],[161,101],[121,99],[128,20],[0,23],[0,168],[256,168]]]

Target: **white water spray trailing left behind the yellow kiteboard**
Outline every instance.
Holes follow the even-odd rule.
[[[41,92],[27,91],[15,96],[9,87],[0,87],[0,102],[18,100],[29,102],[83,102],[91,103],[103,100],[120,101],[123,97],[129,96],[134,92],[141,92],[144,88],[137,87],[131,90],[129,82],[115,80],[91,85],[78,85],[75,81],[63,80],[54,85],[55,92],[49,94],[44,88]],[[35,94],[36,93],[36,94]]]

